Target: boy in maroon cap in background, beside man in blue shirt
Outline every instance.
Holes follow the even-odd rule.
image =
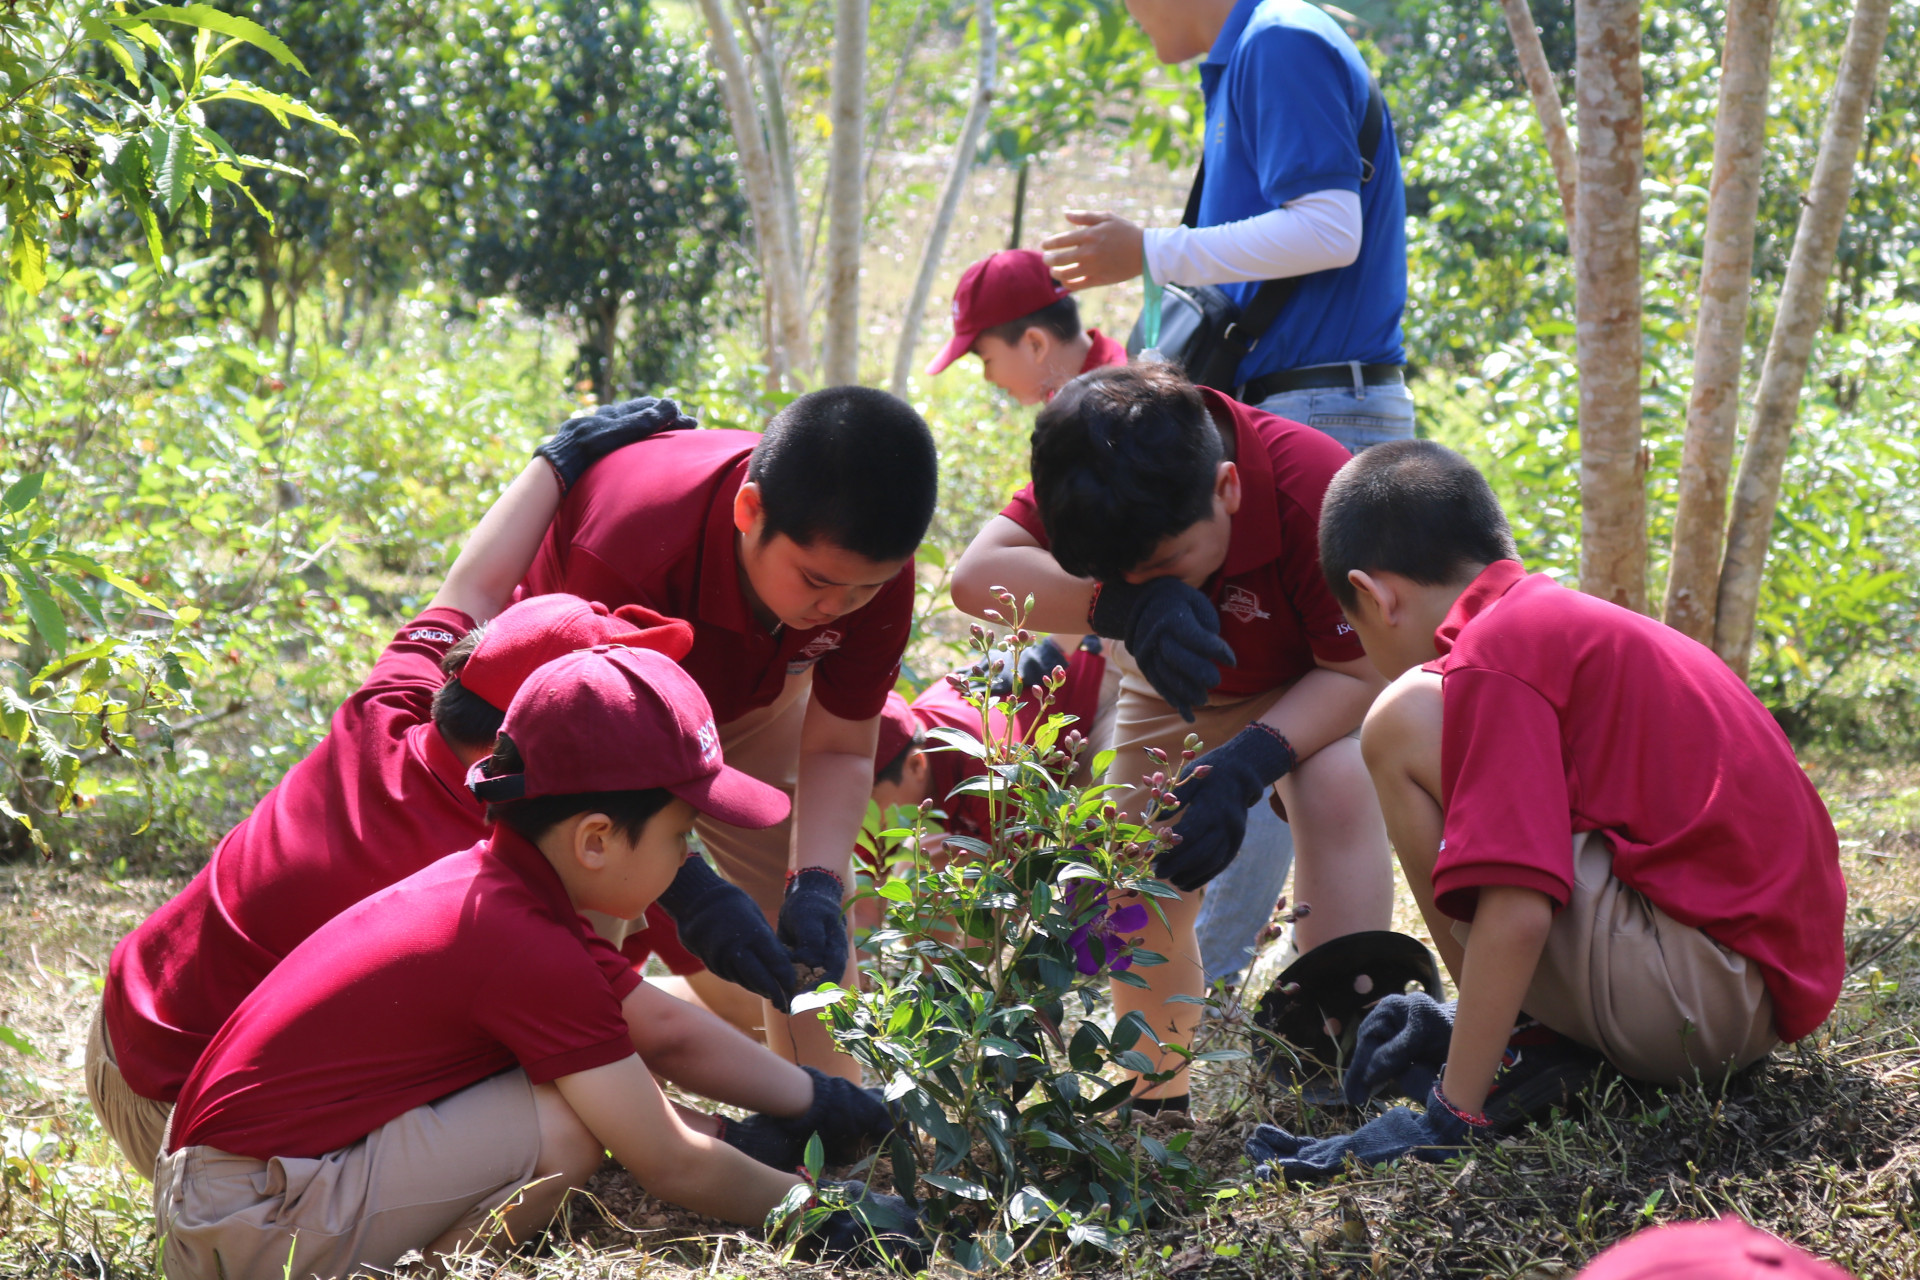
[[[1079,303],[1033,249],[989,253],[954,288],[954,336],[927,376],[962,355],[1021,405],[1039,405],[1091,368],[1125,365],[1127,349],[1096,328],[1083,330]]]

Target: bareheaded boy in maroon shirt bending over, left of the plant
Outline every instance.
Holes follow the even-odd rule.
[[[937,470],[920,415],[870,388],[801,395],[760,436],[662,432],[568,491],[524,583],[693,624],[685,668],[728,760],[795,800],[791,823],[697,831],[778,921],[803,990],[851,984],[849,858],[912,631],[912,553]],[[858,1079],[816,1017],[789,1025],[768,1007],[766,1019],[776,1052]]]

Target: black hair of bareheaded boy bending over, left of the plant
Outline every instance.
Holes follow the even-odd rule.
[[[826,539],[868,560],[914,555],[933,522],[939,455],[914,409],[876,388],[808,391],[774,415],[747,462],[762,541]]]

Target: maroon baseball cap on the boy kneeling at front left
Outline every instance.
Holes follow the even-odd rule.
[[[513,695],[499,731],[522,771],[474,764],[467,789],[482,800],[664,787],[733,827],[772,827],[791,808],[787,793],[720,758],[707,695],[653,649],[595,645],[547,662]]]

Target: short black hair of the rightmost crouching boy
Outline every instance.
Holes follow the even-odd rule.
[[[1321,499],[1321,574],[1346,608],[1350,570],[1386,570],[1423,587],[1519,560],[1507,512],[1473,462],[1432,439],[1373,445],[1340,468]]]

